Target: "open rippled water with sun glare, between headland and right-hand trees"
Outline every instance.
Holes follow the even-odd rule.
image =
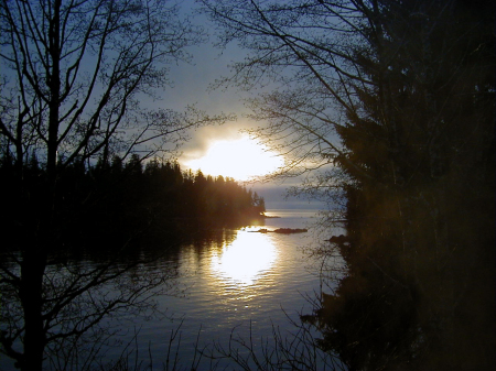
[[[150,352],[154,369],[162,370],[171,332],[177,330],[173,350],[179,349],[179,362],[188,369],[196,342],[200,348],[213,341],[227,346],[231,334],[248,340],[251,331],[256,348],[261,349],[260,339],[270,338],[273,327],[283,334],[294,330],[289,318],[298,320],[299,314],[311,313],[306,295],[315,297],[321,285],[316,261],[302,248],[320,241],[311,229],[306,233],[291,234],[256,231],[308,228],[316,210],[280,209],[267,215],[278,218],[267,218],[265,226],[202,237],[195,243],[182,245],[173,258],[162,258],[153,266],[143,269],[142,274],[147,274],[148,269],[177,274],[174,284],[181,294],[158,298],[159,308],[174,320],[132,318],[125,323],[128,328],[122,328],[126,334],[122,341],[126,343],[138,331],[137,342],[131,348],[138,345],[139,358],[147,364]],[[342,232],[334,230],[328,234]],[[121,347],[111,348],[107,358],[117,358],[121,350]],[[6,363],[3,367],[9,369]],[[228,363],[226,368],[236,369]],[[208,367],[201,363],[198,369]]]

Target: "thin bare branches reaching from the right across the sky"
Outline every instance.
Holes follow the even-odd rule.
[[[250,51],[218,85],[233,84],[246,91],[265,88],[249,105],[254,118],[268,127],[252,134],[270,138],[291,159],[284,175],[332,163],[343,151],[335,131],[343,126],[339,105],[356,105],[346,87],[370,84],[346,68],[354,63],[352,45],[364,14],[352,3],[331,7],[319,1],[204,1],[204,6],[222,28],[220,45],[237,41]]]

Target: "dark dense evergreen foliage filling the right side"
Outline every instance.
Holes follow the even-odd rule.
[[[357,182],[346,190],[351,274],[319,312],[327,343],[354,345],[342,350],[352,368],[493,362],[495,303],[482,283],[494,280],[494,70],[486,66],[495,59],[484,11],[392,2],[366,28],[376,34],[358,61],[373,84],[355,88],[360,114],[348,112],[337,130],[347,153],[336,160]]]

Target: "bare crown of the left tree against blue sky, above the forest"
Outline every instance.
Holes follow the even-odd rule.
[[[35,151],[53,173],[57,161],[107,154],[111,144],[150,150],[151,139],[197,124],[162,114],[143,126],[141,117],[140,101],[170,83],[168,65],[201,41],[176,11],[169,1],[3,2],[4,152],[22,164]]]

